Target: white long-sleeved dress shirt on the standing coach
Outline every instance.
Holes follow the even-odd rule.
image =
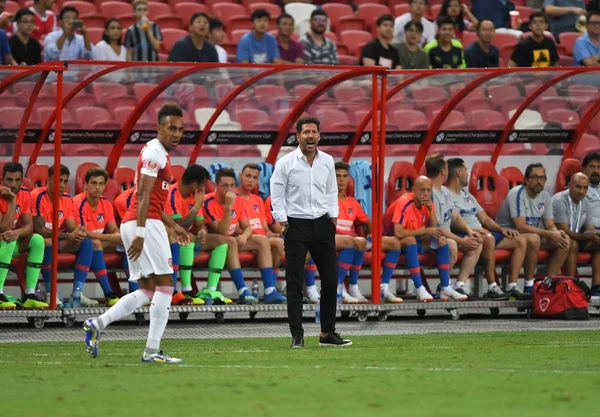
[[[331,155],[317,151],[311,167],[297,148],[277,161],[271,176],[271,212],[280,223],[288,217],[318,219],[328,214],[337,218],[337,194]]]

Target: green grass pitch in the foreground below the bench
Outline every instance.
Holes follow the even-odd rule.
[[[1,404],[21,417],[598,414],[600,332],[352,340],[165,340],[182,366],[142,364],[143,341],[101,342],[97,359],[83,342],[0,344]]]

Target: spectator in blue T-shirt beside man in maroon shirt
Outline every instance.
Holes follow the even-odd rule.
[[[252,30],[246,33],[237,47],[237,62],[241,64],[280,64],[275,37],[269,32],[271,15],[265,9],[256,9],[250,16]]]

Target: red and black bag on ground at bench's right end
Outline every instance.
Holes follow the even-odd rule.
[[[533,314],[562,320],[589,319],[589,287],[571,277],[536,280],[533,284]]]

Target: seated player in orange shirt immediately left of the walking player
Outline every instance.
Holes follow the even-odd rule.
[[[90,269],[96,274],[98,283],[106,295],[106,305],[112,307],[117,297],[108,283],[108,272],[104,253],[116,253],[122,245],[121,232],[115,220],[114,207],[108,198],[103,197],[108,181],[108,173],[101,168],[92,168],[85,174],[85,192],[73,197],[75,221],[84,226],[88,239],[94,247]]]

